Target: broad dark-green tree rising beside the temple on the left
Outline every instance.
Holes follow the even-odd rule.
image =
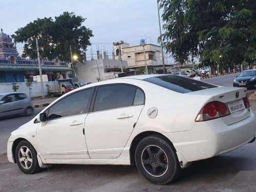
[[[37,18],[34,22],[18,29],[12,35],[14,42],[25,42],[23,57],[37,58],[35,37],[38,37],[39,51],[42,58],[52,60],[58,57],[62,61],[71,61],[70,45],[72,51],[82,61],[83,54],[91,45],[92,30],[82,26],[86,20],[76,16],[73,12],[63,12],[56,16]]]

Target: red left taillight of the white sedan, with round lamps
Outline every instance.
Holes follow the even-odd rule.
[[[208,121],[230,115],[225,103],[220,101],[211,101],[203,106],[198,113],[195,121]]]

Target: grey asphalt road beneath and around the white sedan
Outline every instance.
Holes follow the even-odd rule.
[[[235,76],[204,81],[232,86]],[[252,104],[256,106],[256,102]],[[34,116],[40,110],[37,109]],[[32,117],[0,120],[1,152],[6,152],[9,133]],[[256,142],[218,157],[194,162],[183,170],[177,182],[164,186],[148,183],[136,166],[53,165],[38,174],[25,175],[2,153],[0,191],[256,191]]]

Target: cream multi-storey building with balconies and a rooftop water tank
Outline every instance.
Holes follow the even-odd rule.
[[[139,67],[145,67],[144,51],[142,46],[132,46],[123,42],[121,45],[122,60],[127,61],[128,68],[136,69]],[[114,58],[120,59],[120,53],[117,46],[114,46]],[[146,63],[149,72],[153,73],[157,69],[162,67],[161,59],[161,47],[153,44],[145,45]],[[167,64],[167,58],[165,58],[165,64]]]

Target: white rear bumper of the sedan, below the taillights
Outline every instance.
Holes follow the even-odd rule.
[[[250,142],[256,134],[255,116],[226,125],[221,118],[196,122],[193,129],[184,132],[166,133],[176,151],[187,162],[208,159]]]

